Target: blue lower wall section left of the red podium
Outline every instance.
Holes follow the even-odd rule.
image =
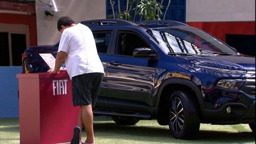
[[[21,67],[0,67],[0,118],[19,118],[19,79]]]

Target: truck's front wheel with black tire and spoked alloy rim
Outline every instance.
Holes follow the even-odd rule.
[[[200,129],[198,106],[188,93],[175,90],[170,97],[169,129],[174,138],[195,138]]]

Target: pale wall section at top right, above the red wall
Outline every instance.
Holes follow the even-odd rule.
[[[255,0],[187,0],[186,22],[255,21]]]

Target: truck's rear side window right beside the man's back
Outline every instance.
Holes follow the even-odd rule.
[[[111,31],[95,32],[93,33],[96,43],[97,51],[101,53],[107,53],[108,44],[111,37]]]

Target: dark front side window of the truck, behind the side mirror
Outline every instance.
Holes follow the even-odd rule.
[[[119,32],[117,38],[116,54],[132,56],[133,50],[138,47],[150,47],[143,38],[136,33]]]

